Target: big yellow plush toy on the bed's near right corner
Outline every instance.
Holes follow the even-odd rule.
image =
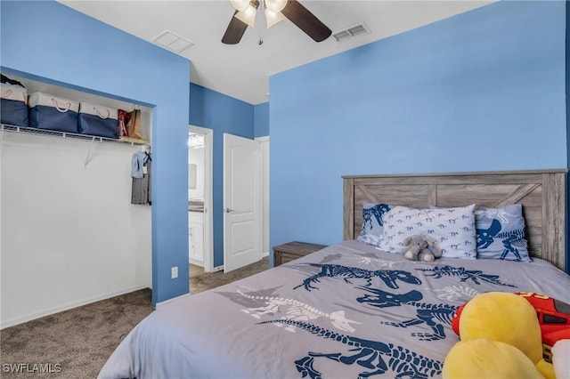
[[[471,299],[461,312],[460,338],[444,360],[444,379],[555,379],[552,365],[542,359],[536,311],[517,294],[490,292]]]

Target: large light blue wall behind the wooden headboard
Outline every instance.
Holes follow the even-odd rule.
[[[271,77],[271,245],[342,240],[343,174],[566,167],[565,2],[500,2]]]

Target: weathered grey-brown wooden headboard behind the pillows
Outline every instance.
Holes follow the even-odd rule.
[[[346,175],[344,239],[360,234],[364,201],[414,208],[520,203],[530,253],[565,270],[566,171]]]

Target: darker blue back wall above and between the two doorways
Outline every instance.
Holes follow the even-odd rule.
[[[190,124],[214,130],[214,266],[224,264],[224,133],[254,138],[254,106],[190,85]]]

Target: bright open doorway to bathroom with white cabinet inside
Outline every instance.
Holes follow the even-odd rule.
[[[192,273],[213,270],[212,133],[188,129],[188,262]]]

